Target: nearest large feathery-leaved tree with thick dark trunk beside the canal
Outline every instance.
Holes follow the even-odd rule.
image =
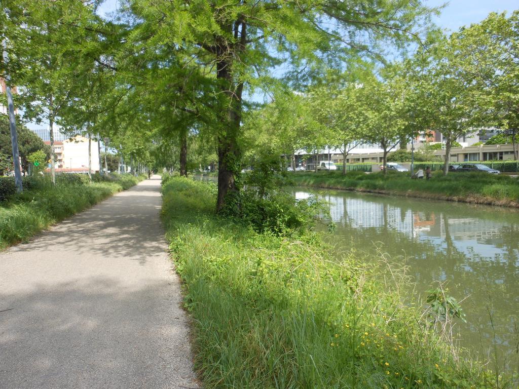
[[[133,0],[129,10],[139,13],[138,20],[157,26],[151,39],[185,53],[190,63],[213,66],[217,211],[237,201],[245,88],[269,88],[270,71],[284,61],[296,70],[292,80],[304,81],[318,74],[321,64],[332,64],[335,59],[379,58],[373,54],[379,49],[377,42],[403,45],[415,23],[431,12],[421,2],[377,1],[351,7],[344,2],[310,0],[218,0],[191,6],[180,0]]]

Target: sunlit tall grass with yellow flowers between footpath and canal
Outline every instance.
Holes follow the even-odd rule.
[[[398,271],[375,276],[383,258],[366,266],[354,252],[337,258],[316,233],[256,232],[215,216],[215,195],[214,183],[187,178],[163,187],[206,387],[495,387],[404,303]]]

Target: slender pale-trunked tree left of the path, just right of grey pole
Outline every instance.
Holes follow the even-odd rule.
[[[6,2],[9,20],[22,28],[9,32],[17,62],[12,78],[23,86],[24,115],[37,122],[46,121],[50,133],[52,182],[54,172],[54,124],[74,98],[79,70],[90,50],[87,35],[96,31],[99,18],[92,5],[84,2]]]

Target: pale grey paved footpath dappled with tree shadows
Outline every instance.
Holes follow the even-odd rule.
[[[0,388],[195,388],[160,178],[0,253]]]

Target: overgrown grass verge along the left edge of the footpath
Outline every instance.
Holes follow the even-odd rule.
[[[75,213],[126,190],[145,178],[130,174],[110,175],[99,182],[89,182],[88,176],[59,175],[54,187],[48,178],[24,179],[25,190],[11,194],[14,180],[2,177],[0,202],[0,250],[27,241],[39,231]],[[12,181],[12,182],[11,182]]]

